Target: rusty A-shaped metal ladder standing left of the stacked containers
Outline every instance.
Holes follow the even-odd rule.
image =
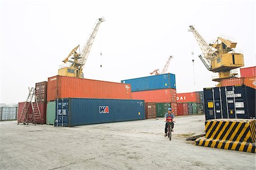
[[[38,120],[42,120],[40,109],[38,106],[38,100],[36,99],[35,95],[35,88],[28,88],[28,96],[27,101],[23,106],[22,113],[20,114],[20,117],[18,119],[18,125],[19,123],[23,123],[24,125],[28,123],[36,124]],[[32,112],[30,113],[28,110],[32,109]]]

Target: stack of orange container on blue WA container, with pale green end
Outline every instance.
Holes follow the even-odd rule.
[[[130,84],[59,75],[48,78],[47,124],[78,126],[144,118],[144,101],[131,100]]]

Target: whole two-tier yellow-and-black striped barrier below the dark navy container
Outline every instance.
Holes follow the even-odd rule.
[[[205,122],[205,137],[196,145],[255,153],[256,120],[220,119]]]

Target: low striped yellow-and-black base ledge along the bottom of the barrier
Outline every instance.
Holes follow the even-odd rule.
[[[255,143],[228,141],[221,139],[198,138],[195,141],[197,146],[206,146],[213,148],[222,148],[225,150],[243,151],[255,153]]]

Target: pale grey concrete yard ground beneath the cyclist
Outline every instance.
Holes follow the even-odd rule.
[[[204,115],[176,117],[172,141],[164,118],[85,125],[0,122],[0,169],[255,169],[255,154],[195,146]]]

